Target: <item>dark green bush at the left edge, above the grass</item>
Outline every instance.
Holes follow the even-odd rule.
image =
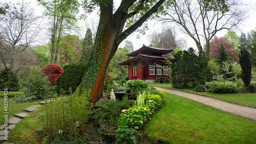
[[[11,79],[8,84],[9,79]],[[4,90],[5,88],[8,91],[18,91],[18,79],[16,75],[13,75],[11,69],[7,68],[0,72],[0,90]]]

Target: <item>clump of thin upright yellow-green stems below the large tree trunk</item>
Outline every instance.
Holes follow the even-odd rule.
[[[93,112],[92,104],[89,102],[90,93],[85,92],[82,95],[55,98],[46,105],[44,112],[39,114],[50,140],[61,141],[63,134],[66,134],[69,141],[72,141],[76,131],[84,135]]]

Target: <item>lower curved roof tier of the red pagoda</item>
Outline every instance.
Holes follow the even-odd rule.
[[[152,55],[139,54],[133,58],[119,62],[118,65],[129,65],[130,63],[138,61],[140,59],[145,61],[145,63],[147,63],[148,61],[151,61],[151,60],[154,60],[155,62],[158,62],[158,63],[164,63],[162,60],[165,60],[166,58],[171,61],[174,61],[174,57],[163,57],[163,56],[152,56]]]

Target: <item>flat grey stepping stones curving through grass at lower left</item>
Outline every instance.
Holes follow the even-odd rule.
[[[41,102],[45,102],[45,104],[46,104],[46,101],[41,101]],[[50,102],[50,100],[48,100],[47,101],[47,103],[48,102]],[[39,103],[39,102],[38,102]],[[26,108],[26,109],[24,109],[25,111],[28,111],[28,112],[33,112],[34,110],[36,110],[36,109],[38,109],[39,107],[41,107],[41,106],[39,106],[39,105],[33,105],[33,106],[31,106],[31,107],[28,107],[28,108]],[[17,116],[17,117],[20,117],[20,118],[25,118],[25,117],[27,117],[27,116],[29,116],[29,114],[28,113],[26,113],[26,112],[20,112],[20,113],[16,113],[16,114],[13,114],[14,116]],[[12,130],[12,129],[14,129],[15,128],[15,126],[16,125],[14,125],[14,124],[17,124],[18,122],[20,122],[20,121],[22,121],[22,119],[20,119],[20,118],[17,118],[17,117],[11,117],[11,118],[9,118],[8,119],[8,122],[9,123],[11,123],[11,124],[13,124],[13,125],[8,125],[8,135],[10,134],[10,130]],[[5,134],[5,125],[0,125],[0,142],[2,141],[2,140],[6,140],[5,138],[6,138],[6,136],[4,136],[4,134]],[[7,138],[8,139],[8,138]],[[12,144],[11,142],[8,142],[8,141],[6,141],[6,142],[4,142],[3,144]]]

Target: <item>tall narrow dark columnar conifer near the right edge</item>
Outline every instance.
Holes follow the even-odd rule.
[[[239,39],[239,62],[242,69],[242,79],[244,81],[244,85],[248,87],[251,81],[251,60],[248,51],[248,40],[244,33],[241,34]]]

